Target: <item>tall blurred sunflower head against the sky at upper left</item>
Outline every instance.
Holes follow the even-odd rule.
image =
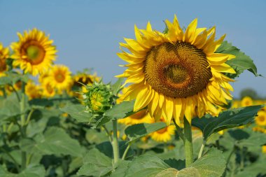
[[[55,60],[55,46],[49,36],[45,36],[43,31],[34,28],[29,32],[24,31],[24,36],[18,33],[20,41],[12,43],[14,59],[13,66],[20,66],[25,73],[36,76],[43,73]]]

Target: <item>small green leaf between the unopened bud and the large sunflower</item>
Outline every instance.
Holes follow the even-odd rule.
[[[106,111],[105,116],[110,120],[126,118],[130,115],[130,113],[133,112],[134,102],[134,100],[123,101],[120,104],[116,104],[111,109]]]

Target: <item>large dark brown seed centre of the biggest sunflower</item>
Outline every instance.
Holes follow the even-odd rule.
[[[174,98],[197,94],[212,77],[204,52],[183,42],[151,48],[144,72],[146,81],[155,91]]]

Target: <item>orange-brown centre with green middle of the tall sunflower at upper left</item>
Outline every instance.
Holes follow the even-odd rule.
[[[40,64],[45,58],[45,50],[38,41],[27,41],[22,45],[22,57],[31,64]]]

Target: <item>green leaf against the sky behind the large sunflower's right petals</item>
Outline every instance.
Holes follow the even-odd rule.
[[[253,73],[255,76],[260,76],[257,73],[257,67],[253,63],[253,60],[248,55],[245,55],[244,52],[241,52],[238,48],[233,46],[231,43],[228,43],[228,41],[223,41],[221,46],[216,50],[217,53],[227,53],[235,55],[236,57],[234,59],[228,60],[226,63],[232,66],[233,69],[235,69],[236,73],[226,73],[230,78],[236,78],[238,77],[243,71],[248,70],[251,73]]]

